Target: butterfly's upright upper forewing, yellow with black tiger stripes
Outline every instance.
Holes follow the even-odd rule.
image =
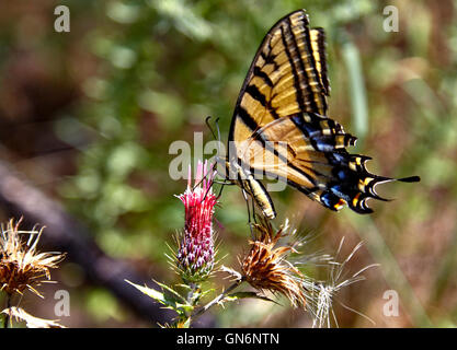
[[[324,33],[308,25],[299,10],[279,20],[263,39],[235,108],[229,141],[236,145],[274,119],[299,112],[327,114]]]

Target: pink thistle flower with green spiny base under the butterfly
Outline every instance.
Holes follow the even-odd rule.
[[[184,203],[185,225],[176,254],[178,270],[186,282],[202,282],[213,271],[215,247],[213,215],[217,197],[213,194],[216,172],[198,161],[195,184],[192,186],[192,171],[188,167],[187,188],[178,196]]]

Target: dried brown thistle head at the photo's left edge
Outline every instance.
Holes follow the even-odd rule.
[[[22,294],[28,289],[36,295],[43,295],[34,288],[50,280],[50,269],[57,268],[65,255],[59,253],[38,253],[36,246],[43,233],[39,231],[20,231],[21,220],[11,219],[0,236],[0,290],[8,294]]]

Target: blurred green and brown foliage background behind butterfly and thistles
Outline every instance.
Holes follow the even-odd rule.
[[[54,9],[70,9],[70,32],[56,33]],[[386,5],[399,31],[387,33]],[[391,202],[375,213],[327,211],[301,194],[273,194],[279,213],[317,235],[316,249],[364,247],[350,271],[379,262],[339,300],[377,327],[454,327],[457,323],[457,20],[456,1],[14,1],[0,3],[0,159],[87,224],[110,256],[156,280],[179,282],[164,253],[183,226],[169,147],[193,144],[206,116],[220,118],[227,140],[232,108],[266,31],[296,9],[327,33],[329,115],[359,138],[353,153],[386,176]],[[209,155],[208,155],[209,156]],[[238,267],[248,248],[239,188],[226,188],[216,213],[219,256]],[[2,222],[8,220],[0,212]],[[71,295],[69,327],[149,327],[110,291],[89,283],[69,257],[53,275]],[[217,275],[215,284],[228,283]],[[148,281],[145,281],[148,282]],[[125,288],[130,288],[126,284]],[[52,290],[52,289],[50,289]],[[400,313],[382,313],[387,290]],[[56,318],[54,300],[24,307]],[[310,319],[263,301],[213,310],[217,326],[308,327]],[[335,305],[342,327],[372,327]]]

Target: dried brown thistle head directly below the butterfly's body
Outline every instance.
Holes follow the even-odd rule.
[[[253,229],[251,249],[241,261],[242,278],[260,291],[285,295],[294,307],[305,306],[304,276],[287,260],[296,249],[294,245],[278,245],[279,238],[287,235],[287,221],[277,232],[266,219],[261,219]]]

